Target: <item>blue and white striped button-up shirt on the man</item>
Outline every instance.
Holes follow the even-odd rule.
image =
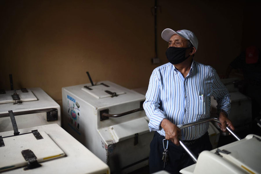
[[[143,104],[150,119],[150,131],[165,136],[160,126],[164,118],[175,125],[209,118],[211,96],[217,100],[217,109],[229,114],[230,95],[211,66],[193,61],[185,78],[171,63],[155,68]],[[183,128],[182,140],[197,139],[207,132],[208,127],[208,123],[203,123]]]

